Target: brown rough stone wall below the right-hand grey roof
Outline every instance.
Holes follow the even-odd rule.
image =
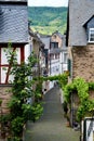
[[[94,81],[94,44],[72,48],[72,78]]]

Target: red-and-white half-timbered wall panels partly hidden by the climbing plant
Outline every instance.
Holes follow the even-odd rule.
[[[13,75],[10,74],[12,69],[6,59],[8,48],[0,48],[0,85],[8,85],[13,81]],[[12,52],[16,53],[16,60],[18,65],[24,61],[24,48],[13,48]]]

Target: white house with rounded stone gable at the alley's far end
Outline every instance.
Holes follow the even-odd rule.
[[[67,70],[67,47],[65,42],[65,35],[58,31],[52,34],[49,50],[49,74],[51,76],[59,75]]]

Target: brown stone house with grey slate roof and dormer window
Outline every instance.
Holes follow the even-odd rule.
[[[81,77],[94,81],[94,1],[69,0],[67,20],[68,81]],[[71,93],[71,125],[75,123],[78,95]]]

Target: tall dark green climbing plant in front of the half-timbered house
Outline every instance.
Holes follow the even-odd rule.
[[[39,102],[36,102],[36,104],[33,103],[33,105],[31,105],[31,103],[27,104],[26,102],[27,99],[31,99],[32,97],[39,99],[39,92],[41,90],[41,87],[39,87],[40,85],[37,86],[37,91],[32,91],[31,89],[35,80],[31,80],[29,76],[32,75],[31,67],[37,63],[33,53],[29,55],[28,63],[22,62],[21,65],[17,65],[15,56],[16,50],[12,49],[11,44],[9,44],[6,59],[8,62],[11,63],[11,74],[14,76],[11,90],[13,94],[8,103],[8,107],[11,112],[8,116],[11,121],[9,128],[11,130],[11,139],[13,141],[21,141],[24,124],[26,124],[28,119],[38,119],[42,114],[43,107]],[[3,125],[4,123],[8,124],[9,118],[3,116],[0,121]]]

